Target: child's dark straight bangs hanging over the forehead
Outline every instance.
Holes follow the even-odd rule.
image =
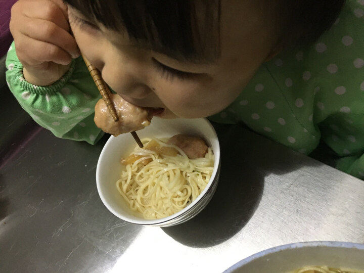
[[[189,62],[220,56],[220,0],[64,0],[137,44]]]

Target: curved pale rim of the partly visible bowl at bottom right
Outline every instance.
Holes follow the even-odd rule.
[[[296,248],[303,248],[303,247],[340,247],[340,248],[356,248],[359,250],[364,250],[364,244],[360,243],[351,243],[351,242],[341,242],[341,241],[308,241],[308,242],[296,242],[296,243],[290,243],[285,245],[279,245],[271,248],[264,249],[262,251],[259,251],[253,255],[250,255],[240,261],[238,261],[236,264],[232,265],[223,273],[230,273],[234,272],[234,270],[239,269],[241,266],[258,259],[260,257],[263,257],[265,255],[280,252],[287,249],[296,249]]]

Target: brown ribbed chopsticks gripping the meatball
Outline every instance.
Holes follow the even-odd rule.
[[[110,111],[110,114],[112,116],[112,118],[114,119],[114,121],[118,121],[119,117],[116,114],[116,110],[114,107],[113,102],[110,99],[110,95],[111,95],[111,91],[109,89],[109,86],[107,85],[107,83],[103,80],[101,73],[99,71],[99,69],[97,69],[95,66],[93,66],[86,58],[83,58],[83,61],[85,62],[88,71],[90,72],[96,86],[99,89],[99,92],[102,96],[102,98],[104,99],[104,102],[107,106],[107,108]],[[138,143],[140,148],[143,148],[143,143],[141,142],[141,140],[139,139],[138,134],[136,134],[135,131],[130,132],[131,135],[133,136],[134,140],[136,141],[136,143]]]

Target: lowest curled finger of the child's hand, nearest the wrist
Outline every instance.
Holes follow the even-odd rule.
[[[37,66],[43,62],[67,65],[72,60],[71,55],[57,45],[28,36],[18,38],[15,48],[19,61],[24,65]]]

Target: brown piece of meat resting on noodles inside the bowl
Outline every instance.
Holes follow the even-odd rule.
[[[208,152],[208,146],[205,141],[197,136],[176,134],[167,143],[179,147],[191,159],[205,157],[205,154]]]

